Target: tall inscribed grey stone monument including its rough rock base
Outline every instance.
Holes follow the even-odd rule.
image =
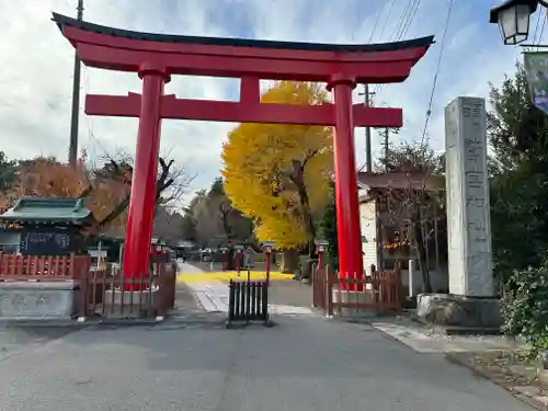
[[[457,98],[445,109],[449,295],[421,295],[418,316],[446,327],[499,330],[487,171],[486,102]]]

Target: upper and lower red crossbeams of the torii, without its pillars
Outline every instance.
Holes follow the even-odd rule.
[[[392,83],[407,79],[426,53],[433,36],[406,42],[333,45],[195,37],[133,32],[92,24],[54,13],[54,21],[90,67],[139,72],[153,61],[168,75],[242,79],[240,102],[164,98],[162,118],[233,123],[316,124],[334,126],[332,104],[289,106],[259,104],[259,80],[329,83],[334,73],[356,83]],[[148,62],[147,62],[148,61]],[[124,99],[124,100],[122,100]],[[121,104],[121,103],[125,104]],[[240,103],[246,102],[242,105]],[[85,113],[137,117],[140,99],[89,95]],[[272,110],[276,115],[272,115]],[[355,104],[354,126],[401,127],[400,109]]]

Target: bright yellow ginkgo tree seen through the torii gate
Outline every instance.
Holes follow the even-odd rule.
[[[321,104],[319,84],[277,82],[263,103]],[[241,124],[222,149],[225,191],[253,219],[260,241],[278,249],[302,248],[329,202],[332,130],[323,126]]]

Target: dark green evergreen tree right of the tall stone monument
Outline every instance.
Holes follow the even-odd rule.
[[[530,102],[523,66],[491,85],[488,137],[495,274],[541,264],[548,251],[548,116]]]

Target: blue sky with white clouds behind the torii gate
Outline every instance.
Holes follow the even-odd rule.
[[[444,47],[449,0],[85,0],[84,20],[152,33],[311,43],[385,43],[435,35],[436,44],[406,82],[372,90],[377,92],[374,104],[403,109],[403,128],[391,137],[396,144],[421,139],[434,90],[426,137],[434,149],[443,150],[445,105],[459,95],[488,99],[489,82],[500,84],[521,59],[521,48],[504,46],[498,27],[489,24],[489,9],[499,1],[454,0]],[[398,38],[398,24],[410,16],[412,3],[418,9]],[[76,4],[77,0],[0,0],[0,150],[10,158],[67,157],[73,48],[50,13],[76,15]],[[534,16],[532,33],[535,22]],[[236,101],[238,84],[235,79],[174,77],[165,92]],[[139,92],[140,85],[133,73],[82,69],[79,148],[87,150],[90,161],[100,162],[118,150],[134,153],[137,119],[89,117],[83,113],[84,94],[126,94]],[[358,91],[355,102],[363,101]],[[161,152],[195,175],[192,191],[205,189],[219,175],[222,142],[236,126],[163,121]],[[365,160],[363,128],[356,128],[355,142],[359,165]],[[373,130],[374,155],[381,142]]]

